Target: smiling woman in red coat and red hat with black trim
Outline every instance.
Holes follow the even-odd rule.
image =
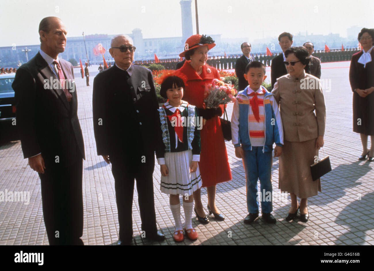
[[[203,109],[204,93],[207,85],[211,84],[214,78],[220,79],[218,70],[206,64],[208,51],[214,46],[214,40],[209,36],[197,34],[189,37],[186,40],[185,51],[180,54],[180,57],[186,58],[186,62],[175,73],[176,75],[183,73],[187,77],[183,100],[196,106],[199,115],[207,120],[200,130],[199,168],[203,187],[206,187],[208,192],[207,208],[209,214],[213,213],[216,220],[222,221],[225,218],[215,206],[215,187],[217,183],[229,181],[232,178],[219,118],[223,114],[224,106]],[[200,189],[193,193],[193,197],[195,199],[196,217],[201,223],[209,223],[201,203]]]

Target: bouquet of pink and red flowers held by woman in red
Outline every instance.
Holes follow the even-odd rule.
[[[207,85],[204,94],[203,108],[217,108],[219,105],[226,105],[234,102],[237,91],[232,85],[226,84],[218,79],[213,79],[212,84]],[[203,125],[206,120],[203,120]]]

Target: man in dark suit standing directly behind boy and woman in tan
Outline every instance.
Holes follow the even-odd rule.
[[[272,79],[272,88],[274,87],[275,82],[277,81],[277,78],[286,75],[288,72],[286,70],[286,66],[284,64],[284,61],[286,61],[286,57],[284,55],[284,52],[291,47],[292,43],[292,35],[287,32],[283,32],[279,35],[279,45],[282,48],[282,54],[277,55],[272,60],[271,65],[271,79]]]

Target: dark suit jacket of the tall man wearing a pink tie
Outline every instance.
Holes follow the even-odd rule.
[[[24,158],[42,153],[48,165],[70,166],[76,152],[85,159],[82,130],[77,115],[77,91],[73,65],[59,58],[65,78],[70,79],[69,103],[61,87],[49,81],[58,77],[38,52],[16,72],[12,84],[16,99],[16,125]],[[45,80],[47,79],[47,81]],[[59,163],[55,163],[59,156]]]

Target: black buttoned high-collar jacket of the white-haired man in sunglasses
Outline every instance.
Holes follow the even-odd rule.
[[[98,73],[92,93],[97,154],[137,160],[135,156],[145,151],[154,152],[158,108],[153,75],[147,68],[131,65],[125,71],[113,65]]]

